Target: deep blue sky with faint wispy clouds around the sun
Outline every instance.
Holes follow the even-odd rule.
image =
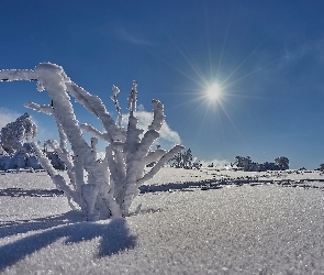
[[[320,0],[4,1],[0,68],[56,63],[112,114],[111,86],[125,111],[136,79],[142,109],[163,101],[169,133],[199,160],[284,155],[292,168],[316,168],[324,162],[323,10]],[[213,82],[222,88],[215,101],[205,97]],[[57,136],[53,118],[23,107],[49,101],[34,82],[1,82],[0,94],[0,125],[29,111],[38,139]],[[86,122],[86,111],[76,112]]]

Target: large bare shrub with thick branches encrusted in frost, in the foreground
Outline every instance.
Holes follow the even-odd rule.
[[[54,117],[59,142],[51,140],[46,143],[65,162],[69,180],[54,169],[38,144],[32,144],[40,163],[47,170],[54,184],[64,190],[71,207],[79,206],[89,220],[127,216],[132,200],[138,194],[138,187],[183,148],[181,145],[176,145],[168,152],[161,148],[150,151],[165,121],[164,106],[160,101],[153,100],[153,121],[145,133],[144,130],[138,129],[135,116],[136,81],[133,81],[129,97],[129,124],[124,128],[118,101],[120,90],[115,86],[112,88],[111,99],[119,114],[116,121],[109,114],[99,97],[90,95],[72,82],[58,65],[42,63],[33,70],[1,70],[0,80],[35,80],[38,91],[44,89],[48,91],[52,98],[51,105],[30,102],[25,106]],[[90,124],[80,125],[78,123],[70,96],[101,121],[103,132]],[[97,140],[92,139],[91,144],[88,144],[82,131],[108,143],[103,162],[96,160]],[[74,158],[67,150],[67,142],[70,143]],[[144,167],[153,162],[156,163],[155,166],[145,173]],[[85,177],[85,173],[88,177]]]

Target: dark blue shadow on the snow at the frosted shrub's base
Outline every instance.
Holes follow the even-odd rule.
[[[66,218],[66,215],[54,219],[45,218],[30,222],[12,222],[0,227],[1,239],[35,231],[32,235],[0,246],[0,271],[12,266],[18,261],[53,244],[62,238],[66,238],[65,244],[100,238],[98,254],[94,255],[98,257],[110,256],[134,249],[136,244],[136,238],[130,234],[126,220],[123,218],[99,222],[72,223],[70,220],[64,220],[64,218]]]

